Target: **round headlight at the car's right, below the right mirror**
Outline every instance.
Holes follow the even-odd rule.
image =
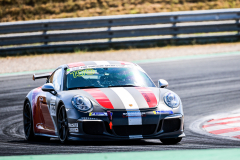
[[[180,99],[179,97],[173,93],[173,92],[168,92],[164,96],[164,102],[166,105],[172,108],[177,108],[180,104]]]

